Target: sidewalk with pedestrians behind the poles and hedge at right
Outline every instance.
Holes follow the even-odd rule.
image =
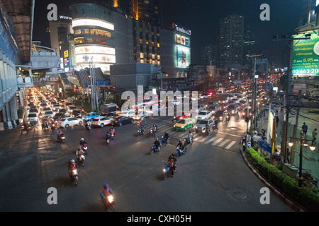
[[[319,129],[319,109],[300,109],[299,112],[299,118],[298,118],[298,126],[297,126],[297,132],[296,137],[300,137],[299,132],[301,131],[301,126],[303,125],[303,122],[306,122],[306,125],[308,126],[307,131],[307,139],[312,140],[312,132],[316,128]],[[294,112],[293,112],[294,113]],[[279,116],[279,124],[276,126],[276,146],[281,145],[281,136],[283,133],[283,121],[284,121],[284,115]],[[262,117],[258,121],[258,127],[259,131],[262,129],[265,129],[267,131],[267,123],[268,123],[268,114],[265,114],[265,117]],[[295,117],[294,115],[289,115],[289,124],[288,124],[288,135],[287,135],[287,142],[290,141],[290,136],[293,135],[293,125],[295,124]],[[308,142],[309,145],[311,145],[311,142]],[[287,144],[288,145],[288,144]],[[288,146],[289,151],[291,148]],[[296,168],[299,168],[299,150],[300,145],[296,143],[295,153],[293,157],[293,165]],[[314,151],[311,151],[309,146],[305,147],[303,146],[303,161],[302,161],[302,167],[303,172],[309,172],[313,175],[313,177],[319,179],[319,145],[318,145],[318,137],[317,137],[317,143],[316,148]]]

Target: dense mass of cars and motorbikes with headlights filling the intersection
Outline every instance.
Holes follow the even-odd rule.
[[[42,129],[51,135],[56,133],[56,141],[67,144],[69,133],[73,133],[72,137],[77,136],[72,129],[76,128],[75,131],[79,133],[77,136],[79,145],[72,147],[76,151],[75,156],[69,159],[68,171],[69,179],[78,185],[81,177],[78,171],[79,165],[88,167],[85,162],[89,161],[88,153],[92,146],[107,148],[120,142],[116,141],[116,137],[122,136],[123,133],[120,128],[127,127],[125,130],[129,130],[132,136],[139,139],[136,142],[145,139],[143,142],[148,143],[148,148],[145,146],[148,155],[155,153],[167,155],[161,176],[165,180],[174,177],[174,172],[178,171],[177,157],[186,155],[194,142],[216,145],[216,142],[221,141],[227,144],[225,150],[237,146],[237,141],[217,139],[217,136],[218,133],[225,133],[220,132],[220,128],[225,129],[230,124],[234,126],[237,122],[245,120],[245,109],[247,106],[251,108],[251,102],[246,102],[251,99],[248,98],[251,95],[249,90],[250,85],[236,85],[223,89],[223,93],[219,93],[218,88],[198,92],[198,107],[189,111],[177,112],[177,106],[183,105],[184,100],[177,104],[177,100],[173,98],[164,104],[161,101],[157,102],[156,107],[155,102],[152,102],[150,107],[150,100],[145,100],[142,107],[136,103],[121,109],[114,103],[108,103],[101,112],[84,112],[82,107],[74,105],[71,100],[57,97],[40,87],[30,88],[27,97],[27,121],[24,121],[21,127],[21,134]],[[244,98],[245,95],[242,93],[248,96]],[[265,100],[260,101],[262,101],[260,105],[266,104]],[[174,116],[155,116],[152,110],[162,112],[167,109],[169,102],[174,104]],[[141,112],[141,109],[145,111]],[[90,141],[83,137],[83,131],[91,133],[91,130],[101,131],[103,141]],[[242,131],[242,134],[245,132]],[[105,189],[107,190],[108,186]],[[106,196],[101,195],[101,197]],[[111,205],[111,209],[114,209],[113,201],[110,203],[107,198],[101,200],[104,206]]]

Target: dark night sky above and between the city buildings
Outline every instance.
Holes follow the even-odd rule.
[[[46,42],[48,4],[57,5],[58,15],[71,16],[69,6],[84,2],[92,1],[35,0],[33,40],[43,44]],[[262,4],[269,4],[269,21],[259,18]],[[245,28],[250,26],[259,52],[281,61],[282,49],[286,48],[286,44],[274,42],[272,36],[293,33],[301,17],[301,8],[301,0],[162,0],[162,21],[191,30],[191,63],[200,64],[201,47],[217,44],[220,18],[237,13],[244,16]]]

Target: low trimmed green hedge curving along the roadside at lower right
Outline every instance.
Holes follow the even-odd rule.
[[[254,148],[247,148],[246,154],[250,162],[252,162],[252,165],[254,165],[269,182],[283,191],[284,194],[293,198],[310,211],[319,211],[318,194],[309,191],[306,187],[298,189],[298,182],[296,182],[295,179],[287,176],[277,167],[266,162]]]

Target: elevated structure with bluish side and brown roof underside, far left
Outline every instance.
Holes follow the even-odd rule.
[[[32,0],[0,1],[0,130],[18,124],[18,101],[26,88],[19,88],[17,72],[26,66],[30,73],[33,10]]]

